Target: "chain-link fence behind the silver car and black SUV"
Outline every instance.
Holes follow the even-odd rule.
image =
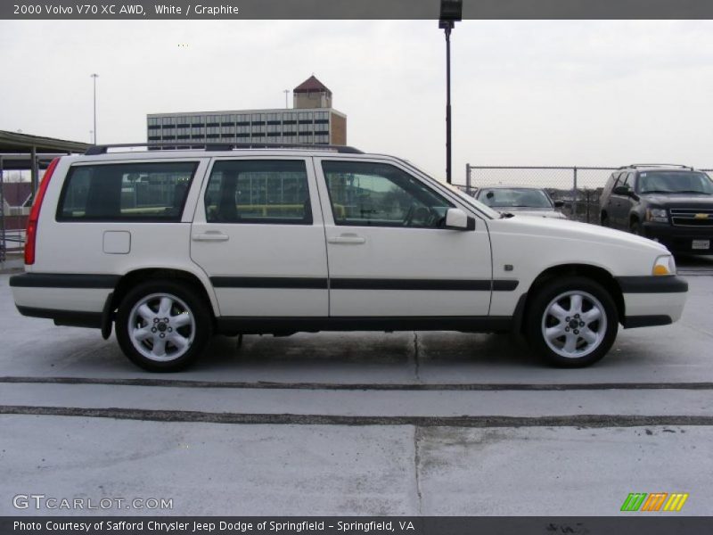
[[[475,194],[488,185],[529,185],[541,187],[554,201],[564,202],[562,213],[568,218],[599,225],[599,197],[619,167],[494,167],[465,166],[465,193]],[[701,169],[709,172],[713,169]]]

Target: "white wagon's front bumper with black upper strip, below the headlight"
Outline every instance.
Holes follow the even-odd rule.
[[[670,325],[684,312],[688,283],[679,276],[621,276],[625,329]]]

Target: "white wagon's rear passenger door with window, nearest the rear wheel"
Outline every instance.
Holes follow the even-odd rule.
[[[310,159],[217,158],[191,240],[221,316],[327,316],[324,224]]]

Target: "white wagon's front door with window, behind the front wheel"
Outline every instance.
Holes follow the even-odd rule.
[[[455,202],[397,161],[316,158],[332,317],[487,316],[488,229],[440,225]]]

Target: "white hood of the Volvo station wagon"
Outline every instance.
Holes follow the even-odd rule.
[[[547,236],[663,253],[668,251],[666,246],[643,236],[570,219],[537,218],[516,214],[512,218],[495,219],[491,223],[493,228],[497,228],[497,232],[507,234]]]

